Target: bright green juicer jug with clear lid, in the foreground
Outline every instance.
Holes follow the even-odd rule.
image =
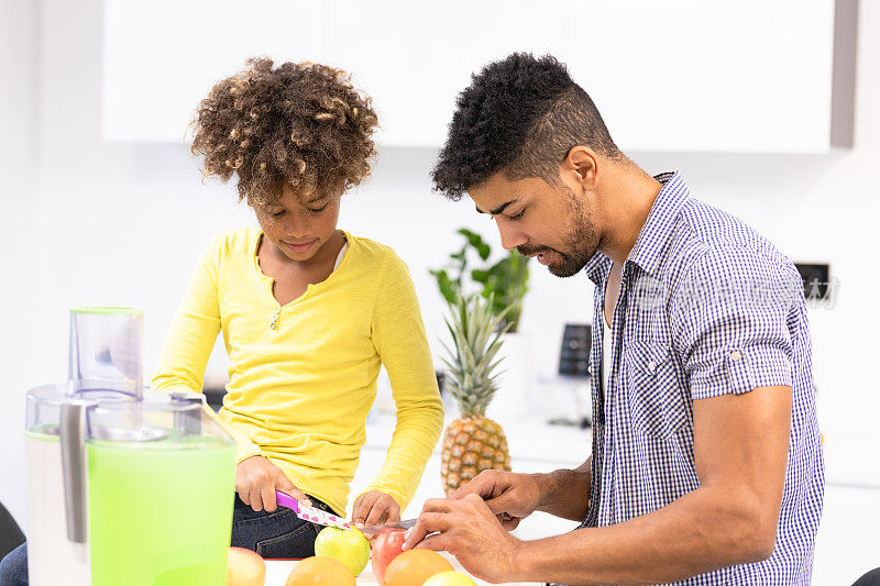
[[[235,444],[201,396],[69,401],[62,411],[62,450],[87,454],[72,454],[88,469],[65,467],[64,484],[67,518],[85,524],[88,509],[91,584],[223,584]]]

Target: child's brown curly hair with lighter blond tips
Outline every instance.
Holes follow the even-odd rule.
[[[204,176],[238,176],[239,201],[339,192],[370,175],[377,125],[372,100],[326,65],[252,58],[213,86],[193,120],[191,152]]]

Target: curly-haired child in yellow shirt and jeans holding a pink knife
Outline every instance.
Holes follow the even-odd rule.
[[[355,522],[399,520],[442,428],[406,265],[337,229],[342,195],[370,173],[376,122],[345,73],[266,58],[217,84],[194,121],[205,175],[234,177],[260,229],[202,253],[152,387],[201,391],[223,333],[231,380],[218,418],[239,446],[232,544],[266,557],[312,555],[319,529],[276,511],[276,489],[344,513],[381,365],[397,425]]]

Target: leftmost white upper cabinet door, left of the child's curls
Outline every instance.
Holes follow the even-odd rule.
[[[218,80],[243,69],[248,57],[309,60],[320,56],[326,40],[320,2],[105,0],[103,5],[101,122],[108,140],[184,141],[199,101]]]

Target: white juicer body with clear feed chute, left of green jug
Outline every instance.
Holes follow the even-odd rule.
[[[85,409],[143,397],[143,311],[82,306],[70,310],[68,380],[28,392],[24,443],[28,485],[28,572],[31,586],[88,586],[87,487],[64,483],[64,473],[88,468],[86,451],[62,450],[62,432],[80,430]],[[69,469],[68,469],[69,468]],[[77,491],[79,490],[79,493]],[[80,510],[81,509],[81,510]],[[67,515],[80,510],[80,517]]]

